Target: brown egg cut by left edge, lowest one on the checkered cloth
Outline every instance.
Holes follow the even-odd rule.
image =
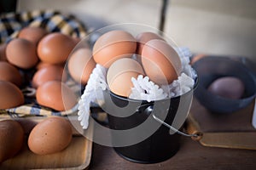
[[[0,109],[9,109],[24,104],[24,95],[11,82],[0,81]]]

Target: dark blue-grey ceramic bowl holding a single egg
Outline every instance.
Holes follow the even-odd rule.
[[[209,111],[231,113],[249,105],[256,96],[256,76],[241,62],[227,57],[207,56],[193,65],[199,84],[195,98]],[[241,99],[227,99],[210,93],[207,88],[217,78],[237,77],[245,85]]]

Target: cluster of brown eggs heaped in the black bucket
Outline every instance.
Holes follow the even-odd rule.
[[[141,32],[133,37],[128,31],[104,33],[94,44],[93,59],[108,68],[108,87],[114,94],[129,97],[131,77],[148,76],[158,84],[170,84],[182,71],[177,52],[154,32]]]

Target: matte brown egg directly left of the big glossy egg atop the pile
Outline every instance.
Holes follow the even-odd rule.
[[[30,69],[38,63],[36,44],[26,39],[15,38],[6,48],[9,63],[21,69]]]

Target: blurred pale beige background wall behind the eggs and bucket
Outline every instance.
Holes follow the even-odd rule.
[[[90,31],[115,23],[160,27],[163,0],[1,0],[4,10],[58,9]],[[194,54],[241,56],[256,62],[256,1],[166,1],[164,30]],[[8,3],[8,4],[7,4]],[[15,5],[14,5],[15,4]],[[12,5],[12,7],[10,7]],[[4,7],[4,9],[3,9]]]

